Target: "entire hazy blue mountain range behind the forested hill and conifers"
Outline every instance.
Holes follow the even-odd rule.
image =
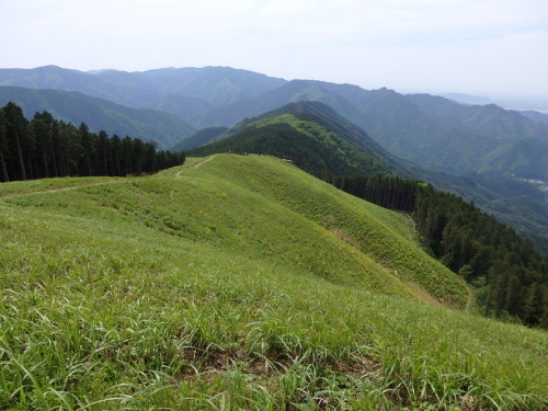
[[[430,94],[287,81],[227,67],[144,72],[0,69],[0,102],[9,98],[27,114],[48,110],[61,119],[84,121],[93,129],[172,149],[203,145],[229,127],[236,127],[229,132],[235,134],[246,118],[288,103],[320,102],[389,153],[401,174],[473,199],[515,228],[540,235],[540,242],[548,236],[544,195],[527,183],[543,186],[548,181],[548,123],[537,112],[522,115]]]

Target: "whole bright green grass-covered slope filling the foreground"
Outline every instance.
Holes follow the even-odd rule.
[[[546,333],[433,307],[467,290],[404,215],[207,160],[0,185],[0,408],[546,406]]]

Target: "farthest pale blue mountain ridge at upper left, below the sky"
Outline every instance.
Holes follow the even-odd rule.
[[[165,68],[142,72],[83,72],[57,66],[0,69],[0,85],[79,91],[134,109],[167,111],[183,119],[215,105],[260,95],[285,82],[229,67]]]

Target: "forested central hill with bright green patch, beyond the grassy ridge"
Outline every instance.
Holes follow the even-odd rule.
[[[404,172],[364,130],[318,102],[292,103],[246,119],[215,142],[191,152],[203,156],[225,151],[298,159],[300,165],[313,174]]]

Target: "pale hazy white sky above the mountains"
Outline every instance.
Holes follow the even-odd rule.
[[[548,98],[548,0],[0,0],[0,67],[45,65]]]

